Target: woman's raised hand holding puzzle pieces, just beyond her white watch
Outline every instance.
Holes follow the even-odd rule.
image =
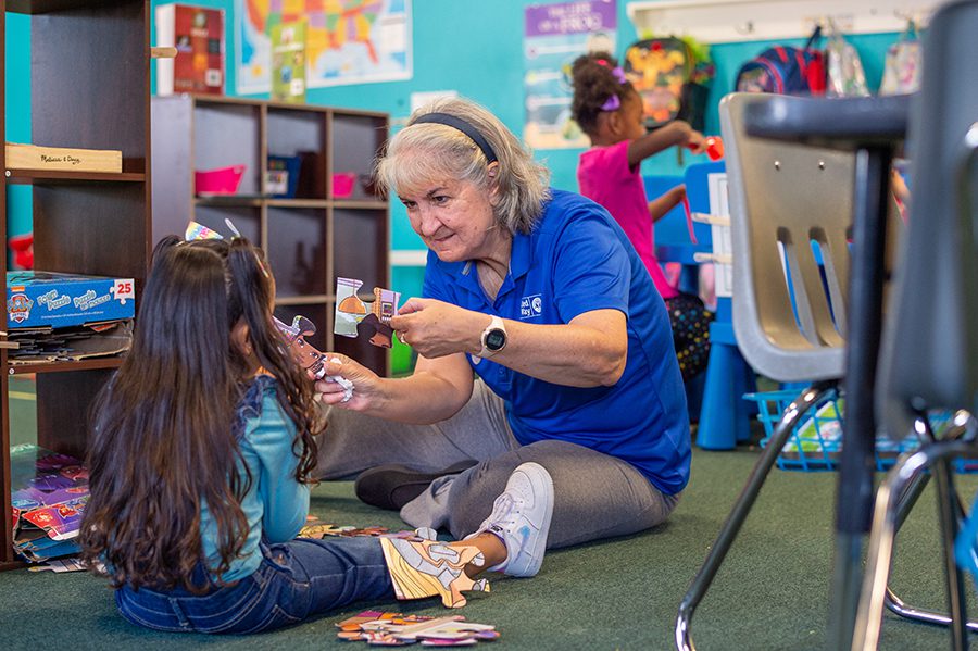
[[[457,352],[478,354],[489,315],[435,299],[412,298],[390,320],[402,343],[429,360]]]

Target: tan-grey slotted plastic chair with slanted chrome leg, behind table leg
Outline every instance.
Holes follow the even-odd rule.
[[[861,187],[856,179],[866,165],[860,163],[857,147],[839,148],[831,141],[818,147],[817,141],[813,146],[808,139],[791,141],[791,136],[783,133],[798,126],[790,120],[786,124],[786,115],[806,118],[813,107],[824,110],[824,101],[734,93],[720,102],[730,193],[734,327],[738,346],[756,371],[773,379],[815,381],[789,404],[774,428],[716,543],[684,598],[675,631],[679,649],[693,649],[690,631],[693,612],[794,426],[808,409],[838,390],[843,373],[852,373],[853,360],[847,360],[852,355],[848,355],[851,351],[845,346],[854,323],[848,305],[852,273],[848,239],[853,215],[865,210],[867,203],[855,203]],[[905,104],[904,100],[898,100],[895,104],[889,100],[881,104],[874,100],[870,113],[881,117],[881,133],[887,138],[892,139],[893,134],[902,135],[906,122]],[[749,135],[751,113],[775,114],[777,120],[768,123],[777,123],[777,128],[772,129],[770,136]],[[888,266],[885,263],[891,258],[887,255],[890,251],[886,245],[893,248],[899,217],[892,199],[888,201],[887,198],[883,188],[881,202],[873,205],[878,205],[886,215],[883,224],[894,237],[887,240],[883,228],[879,238],[864,238],[869,242],[866,248],[876,251],[877,245],[880,246],[879,255],[868,255],[861,271],[877,264]],[[820,253],[822,265],[813,252],[815,249]],[[862,289],[873,285],[875,283],[855,286]],[[879,289],[877,293],[881,295],[881,291]],[[864,293],[865,298],[868,300],[856,305],[860,317],[856,325],[862,328],[863,339],[873,331],[874,321],[878,322],[879,309],[874,305],[880,300],[878,296],[866,297]],[[856,376],[872,377],[875,373],[875,366],[862,363],[864,356],[872,356],[875,362],[875,346],[872,350],[860,347],[855,358],[862,373]],[[867,411],[857,406],[850,404],[848,411]],[[872,412],[872,406],[868,411]],[[849,422],[847,418],[847,425]],[[854,608],[852,610],[854,613]]]

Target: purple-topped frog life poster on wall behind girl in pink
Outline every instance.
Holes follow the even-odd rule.
[[[615,51],[616,0],[535,4],[525,17],[523,138],[534,149],[588,147],[570,120],[570,65],[585,52]]]

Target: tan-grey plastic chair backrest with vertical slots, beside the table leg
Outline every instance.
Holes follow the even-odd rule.
[[[734,330],[744,359],[773,379],[841,377],[855,157],[748,136],[744,108],[776,97],[807,101],[732,93],[719,107]]]

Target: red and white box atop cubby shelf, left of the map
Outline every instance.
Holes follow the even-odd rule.
[[[161,4],[155,15],[156,46],[177,50],[156,59],[156,95],[224,95],[224,11]]]

